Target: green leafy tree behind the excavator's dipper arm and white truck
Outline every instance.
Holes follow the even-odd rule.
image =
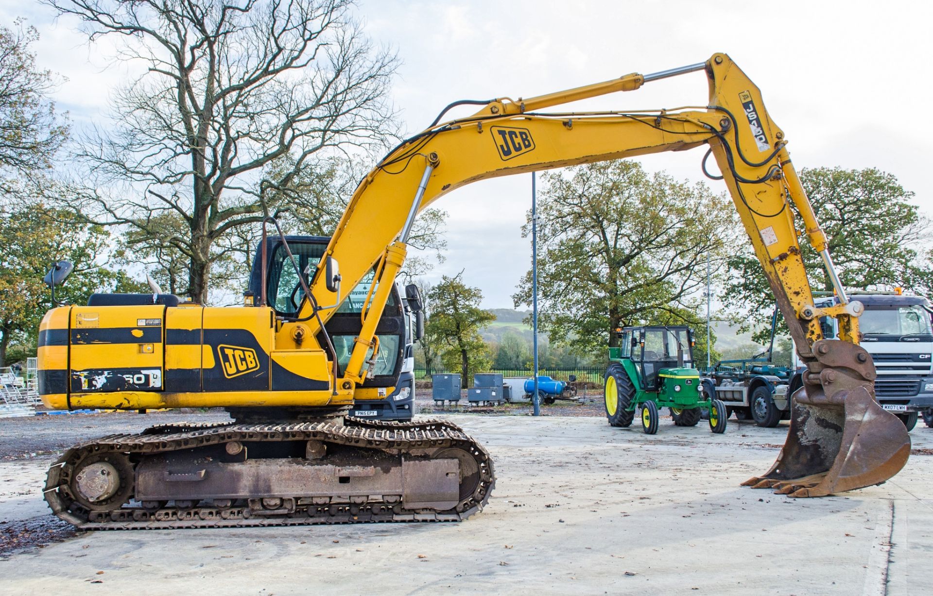
[[[898,179],[874,168],[805,168],[801,184],[813,204],[816,219],[829,240],[829,254],[842,284],[856,289],[923,287],[924,274],[917,267],[915,247],[924,237],[926,221],[911,203],[913,193]],[[797,216],[797,229],[805,229]],[[832,291],[820,256],[801,237],[801,256],[811,286]],[[770,335],[774,297],[758,259],[747,244],[728,261],[730,278],[725,285],[726,307],[750,316],[748,328],[758,324],[756,340]],[[779,317],[779,332],[787,325]]]

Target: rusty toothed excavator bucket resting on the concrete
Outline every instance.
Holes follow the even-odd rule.
[[[870,354],[846,341],[819,340],[814,355],[792,395],[784,448],[765,475],[743,486],[825,496],[881,484],[907,464],[911,438],[874,398]]]

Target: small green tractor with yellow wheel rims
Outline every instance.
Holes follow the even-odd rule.
[[[617,329],[620,347],[609,348],[606,368],[606,418],[629,426],[641,412],[642,429],[658,432],[658,409],[669,408],[677,426],[696,426],[700,409],[709,409],[709,428],[726,431],[726,407],[704,395],[700,371],[693,368],[693,337],[686,326]]]

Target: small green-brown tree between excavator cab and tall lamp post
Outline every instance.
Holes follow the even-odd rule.
[[[444,275],[431,289],[428,296],[431,312],[426,326],[443,342],[440,358],[444,366],[459,370],[466,388],[474,373],[489,369],[489,352],[480,329],[492,323],[495,315],[480,309],[480,289],[464,284],[461,275],[463,271],[453,277]]]

